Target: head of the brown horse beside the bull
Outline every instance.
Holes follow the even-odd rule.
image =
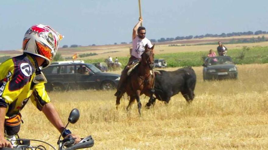
[[[149,48],[148,45],[146,44],[144,48],[145,48],[145,51],[142,54],[142,63],[144,65],[149,65],[150,70],[152,70],[153,58],[154,58],[154,51],[153,51],[154,45],[151,48]]]

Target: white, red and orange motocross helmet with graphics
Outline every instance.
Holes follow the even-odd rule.
[[[23,53],[37,55],[46,60],[42,68],[46,68],[55,57],[59,41],[63,38],[48,25],[33,25],[23,38]]]

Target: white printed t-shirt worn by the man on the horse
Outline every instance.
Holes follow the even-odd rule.
[[[140,39],[138,35],[136,35],[136,38],[132,40],[132,53],[131,55],[141,59],[141,55],[145,51],[145,45],[148,44],[148,47],[153,47],[150,40],[147,38]]]

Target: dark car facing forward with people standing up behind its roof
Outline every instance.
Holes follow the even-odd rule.
[[[237,68],[230,56],[208,57],[203,66],[204,80],[237,79]]]

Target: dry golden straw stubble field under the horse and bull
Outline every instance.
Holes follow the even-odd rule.
[[[153,109],[142,107],[141,118],[136,103],[129,114],[125,111],[127,100],[116,111],[115,91],[49,95],[65,123],[72,108],[80,110],[79,121],[69,129],[81,137],[92,135],[92,149],[268,149],[267,68],[238,65],[238,80],[204,82],[202,68],[195,67],[191,105],[179,94],[168,105],[157,101]],[[148,98],[141,101],[145,106]],[[56,145],[59,133],[41,112],[27,104],[22,115],[21,137]]]

